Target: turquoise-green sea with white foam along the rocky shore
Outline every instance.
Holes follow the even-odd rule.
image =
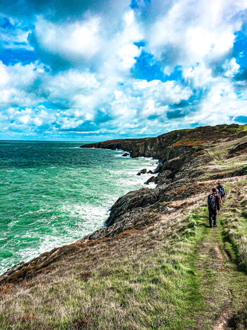
[[[120,196],[145,187],[139,170],[157,166],[82,144],[0,141],[0,274],[102,228]]]

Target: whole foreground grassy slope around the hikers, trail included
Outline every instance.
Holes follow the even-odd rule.
[[[209,228],[202,205],[161,217],[144,230],[92,242],[65,255],[52,272],[1,287],[0,329],[209,330],[227,304],[231,322],[241,329],[246,181],[225,188],[217,230]]]

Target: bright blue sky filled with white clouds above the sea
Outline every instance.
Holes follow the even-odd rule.
[[[247,124],[247,0],[1,0],[0,140]]]

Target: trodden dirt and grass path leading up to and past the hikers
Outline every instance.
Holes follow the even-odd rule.
[[[224,208],[220,214],[224,217]],[[239,271],[224,250],[221,233],[218,221],[218,228],[205,228],[204,239],[198,244],[197,269],[201,278],[200,292],[206,307],[196,329],[237,329],[229,325],[229,320],[233,317],[233,287]]]

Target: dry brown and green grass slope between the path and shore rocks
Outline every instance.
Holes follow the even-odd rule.
[[[183,283],[183,271],[173,265],[184,263],[192,247],[174,241],[174,235],[185,228],[190,212],[161,216],[158,223],[114,239],[78,243],[49,265],[49,272],[6,284],[1,290],[0,325],[13,330],[76,329],[80,322],[88,322],[89,329],[117,329],[121,322],[127,329],[150,329],[158,311],[179,308],[179,290],[172,294],[174,305],[163,296]]]

